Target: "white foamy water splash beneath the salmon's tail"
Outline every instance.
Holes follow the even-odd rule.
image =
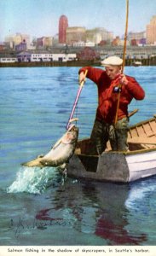
[[[56,168],[38,168],[38,167],[20,167],[16,174],[14,183],[7,189],[8,193],[27,192],[32,194],[41,194],[50,183],[56,182],[58,171]]]

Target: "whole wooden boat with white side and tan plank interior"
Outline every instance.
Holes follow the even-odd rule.
[[[67,165],[71,177],[130,183],[156,174],[156,115],[130,126],[130,152],[113,152],[110,143],[100,156],[90,155],[90,138],[78,141]]]

